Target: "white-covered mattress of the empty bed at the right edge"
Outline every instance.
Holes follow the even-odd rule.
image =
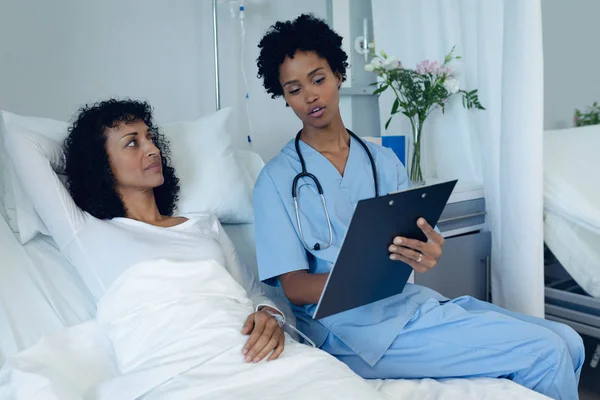
[[[600,297],[600,125],[544,134],[544,238],[587,293]]]

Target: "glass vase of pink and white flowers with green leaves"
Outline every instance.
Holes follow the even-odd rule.
[[[385,52],[376,55],[365,69],[374,72],[378,81],[373,94],[381,94],[392,90],[395,96],[390,118],[385,124],[387,129],[396,114],[404,114],[412,128],[412,152],[409,158],[409,178],[414,185],[425,184],[421,159],[423,143],[423,125],[425,120],[437,108],[445,111],[446,104],[455,94],[462,95],[465,108],[485,110],[479,103],[477,89],[466,91],[459,87],[458,79],[450,67],[453,60],[459,59],[454,55],[454,48],[446,55],[443,63],[425,60],[415,69],[405,68],[395,57],[389,57]]]

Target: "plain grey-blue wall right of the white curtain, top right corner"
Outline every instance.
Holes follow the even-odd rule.
[[[544,128],[573,126],[575,109],[600,101],[598,0],[543,0]]]

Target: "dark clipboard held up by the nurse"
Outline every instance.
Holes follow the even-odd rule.
[[[321,319],[401,293],[413,269],[389,258],[396,236],[427,241],[420,217],[435,226],[457,180],[358,202],[313,315]]]

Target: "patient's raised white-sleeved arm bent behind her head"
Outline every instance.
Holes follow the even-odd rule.
[[[60,144],[21,128],[6,132],[5,145],[18,183],[63,250],[83,226],[86,214],[75,205],[54,172],[64,167]]]

